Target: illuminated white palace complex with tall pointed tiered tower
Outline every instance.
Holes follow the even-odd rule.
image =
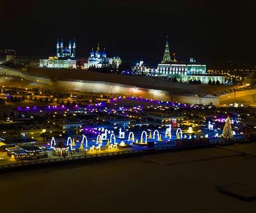
[[[156,76],[177,78],[180,82],[198,81],[201,84],[225,84],[223,76],[209,76],[206,73],[206,65],[197,63],[193,58],[189,62],[178,62],[173,54],[173,59],[170,56],[169,43],[166,40],[163,60],[158,64]]]

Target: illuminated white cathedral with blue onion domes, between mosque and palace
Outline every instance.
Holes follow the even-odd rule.
[[[118,68],[121,64],[122,60],[120,57],[107,57],[106,48],[104,48],[103,52],[100,52],[100,44],[98,43],[96,52],[90,52],[90,57],[88,57],[88,62],[84,63],[84,68],[103,68],[106,66],[113,66]]]

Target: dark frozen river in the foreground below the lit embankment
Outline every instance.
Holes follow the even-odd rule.
[[[250,143],[3,173],[1,212],[251,212],[214,187],[256,187],[255,156]]]

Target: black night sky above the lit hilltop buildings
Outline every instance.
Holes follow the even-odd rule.
[[[76,38],[79,57],[99,41],[110,56],[143,54],[154,65],[168,35],[181,61],[256,62],[255,7],[253,0],[0,0],[0,48],[47,56],[57,38]]]

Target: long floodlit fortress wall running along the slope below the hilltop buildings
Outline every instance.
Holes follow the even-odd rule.
[[[51,85],[52,88],[63,90],[77,90],[83,92],[92,92],[100,94],[111,94],[112,96],[134,96],[148,99],[158,99],[159,101],[177,101],[179,103],[194,103],[194,104],[219,104],[219,98],[211,95],[205,97],[198,97],[193,94],[170,94],[168,91],[146,89],[141,87],[134,87],[124,84],[115,84],[109,82],[85,81],[85,80],[54,80],[51,78],[36,77],[28,75],[20,70],[0,67],[0,73],[5,75],[13,75],[33,82]]]

